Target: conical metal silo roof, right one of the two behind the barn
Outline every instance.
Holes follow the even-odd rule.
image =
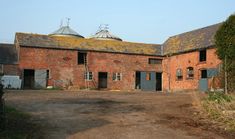
[[[112,33],[110,33],[107,28],[100,29],[98,32],[96,32],[95,35],[91,36],[91,38],[102,39],[102,40],[118,40],[118,41],[122,41],[121,38],[119,38],[119,37],[113,35]]]

